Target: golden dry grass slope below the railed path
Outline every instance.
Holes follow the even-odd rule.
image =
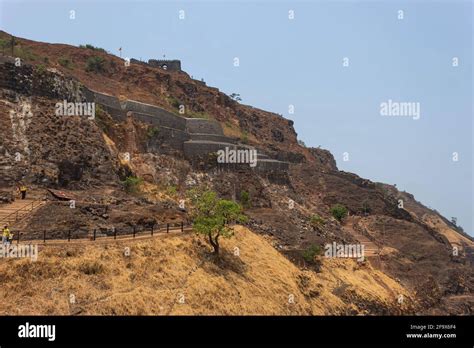
[[[36,262],[5,259],[0,314],[396,314],[410,306],[411,295],[368,264],[324,260],[321,273],[302,271],[264,237],[236,230],[219,262],[194,234],[47,246]]]

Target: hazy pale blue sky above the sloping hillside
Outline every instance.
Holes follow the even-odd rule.
[[[474,235],[472,1],[0,0],[0,29],[180,59],[294,120],[339,169],[396,184]],[[419,117],[382,115],[389,100]]]

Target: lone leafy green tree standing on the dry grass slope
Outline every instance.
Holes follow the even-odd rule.
[[[207,236],[214,255],[219,255],[219,238],[230,238],[234,230],[233,222],[245,222],[247,217],[242,214],[242,207],[230,200],[219,199],[213,191],[191,190],[188,194],[192,203],[194,230]]]

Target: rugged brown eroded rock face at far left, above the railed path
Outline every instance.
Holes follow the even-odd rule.
[[[56,116],[55,100],[0,90],[2,184],[43,185],[116,180],[116,165],[94,122]],[[81,183],[80,185],[83,185]]]

